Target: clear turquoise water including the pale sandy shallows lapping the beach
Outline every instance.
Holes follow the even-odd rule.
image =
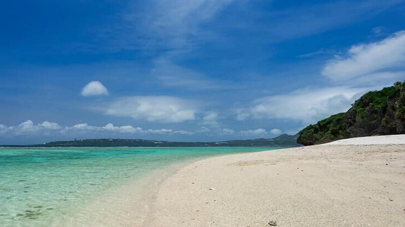
[[[158,179],[180,166],[269,149],[275,148],[4,149],[0,225],[131,226],[147,213]]]

